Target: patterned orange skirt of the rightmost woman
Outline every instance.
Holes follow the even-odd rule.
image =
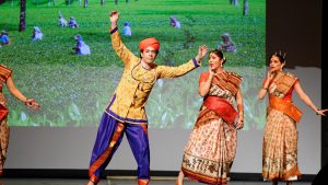
[[[262,143],[262,176],[268,181],[295,181],[297,166],[297,125],[295,120],[270,108]]]

